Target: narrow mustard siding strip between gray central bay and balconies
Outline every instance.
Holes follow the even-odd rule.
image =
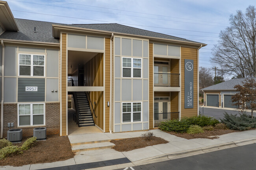
[[[149,43],[149,129],[152,129],[154,126],[153,120],[153,43]]]

